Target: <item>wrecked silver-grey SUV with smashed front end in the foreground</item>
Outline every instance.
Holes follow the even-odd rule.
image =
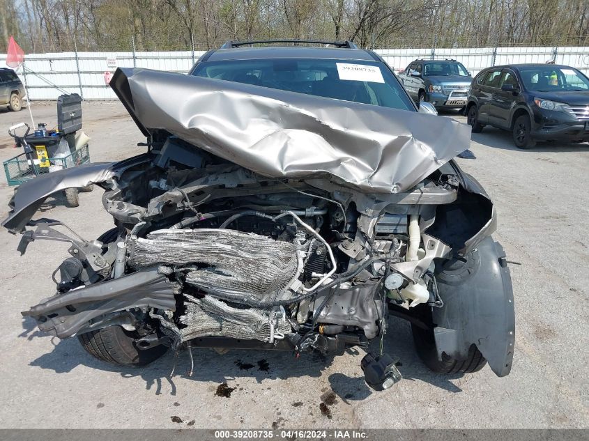
[[[3,226],[22,233],[20,252],[59,240],[71,254],[56,293],[24,316],[125,366],[197,346],[343,353],[397,316],[434,371],[487,361],[507,375],[514,309],[491,238],[496,213],[452,160],[468,148],[468,126],[419,113],[370,52],[317,48],[314,63],[293,58],[308,48],[281,50],[289,57],[275,64],[240,60],[243,71],[224,66],[222,51],[194,75],[116,71],[111,85],[148,151],[18,189]],[[279,88],[296,69],[309,84]],[[318,96],[313,82],[374,101]],[[98,240],[31,220],[49,194],[91,184],[114,218]],[[398,380],[391,360],[362,360],[369,385]]]

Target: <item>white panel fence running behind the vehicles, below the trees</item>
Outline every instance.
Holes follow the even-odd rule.
[[[471,74],[491,65],[513,63],[556,63],[571,65],[589,75],[589,47],[477,47],[457,49],[377,49],[383,59],[397,72],[404,70],[415,59],[456,59],[463,63]],[[105,72],[114,72],[116,67],[149,68],[167,72],[188,72],[194,61],[204,52],[74,52],[26,54],[26,68],[36,72],[18,74],[26,79],[31,100],[56,100],[61,95],[55,84],[68,93],[81,93],[84,100],[113,100],[116,95],[105,83]],[[6,55],[0,54],[0,60]],[[2,67],[3,61],[0,61]]]

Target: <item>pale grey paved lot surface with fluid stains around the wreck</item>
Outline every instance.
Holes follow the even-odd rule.
[[[55,103],[34,103],[36,122],[56,123]],[[18,152],[6,134],[28,112],[0,111],[0,157]],[[465,118],[457,114],[445,117]],[[140,153],[143,141],[118,102],[85,102],[84,130],[93,161]],[[510,134],[486,127],[473,134],[477,160],[459,160],[491,194],[495,234],[514,283],[517,339],[510,376],[488,367],[464,376],[430,373],[415,355],[408,325],[390,320],[385,350],[401,359],[404,380],[372,392],[360,370],[363,351],[323,358],[233,350],[194,350],[145,369],[119,369],[93,359],[77,339],[36,331],[20,311],[53,293],[52,271],[66,245],[36,242],[22,258],[18,238],[0,232],[2,428],[586,428],[589,422],[589,146],[538,144],[517,150]],[[13,189],[0,178],[0,214]],[[43,207],[85,238],[112,226],[102,190],[80,194],[79,208],[61,198]],[[229,397],[217,396],[226,382]],[[323,405],[321,412],[320,404]]]

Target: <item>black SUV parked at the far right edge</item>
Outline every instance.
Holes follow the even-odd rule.
[[[589,79],[565,65],[517,64],[482,70],[466,105],[468,124],[511,130],[519,148],[536,140],[589,140]]]

